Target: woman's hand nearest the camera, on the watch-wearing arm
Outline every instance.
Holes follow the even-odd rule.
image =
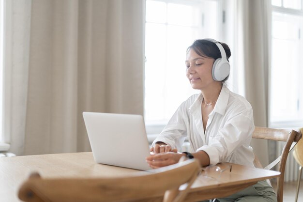
[[[146,157],[146,162],[151,168],[156,169],[178,163],[182,155],[184,154],[175,152],[160,153]]]

